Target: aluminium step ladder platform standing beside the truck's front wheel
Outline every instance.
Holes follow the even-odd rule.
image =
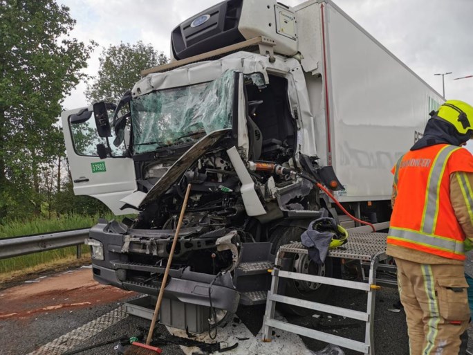
[[[360,268],[362,271],[362,282],[340,280],[333,277],[307,275],[295,273],[292,271],[283,271],[279,265],[281,265],[282,258],[285,255],[288,253],[308,254],[308,250],[300,242],[281,246],[281,248],[279,248],[279,252],[277,253],[276,266],[272,269],[272,282],[270,291],[268,291],[266,313],[263,323],[263,341],[270,341],[272,328],[277,328],[302,336],[307,336],[308,338],[322,340],[326,343],[339,345],[340,347],[353,349],[355,351],[361,352],[362,354],[374,355],[373,320],[375,311],[375,291],[380,289],[379,284],[387,284],[388,286],[394,286],[396,284],[396,282],[393,282],[392,280],[376,279],[376,273],[378,270],[383,269],[384,271],[395,271],[396,269],[396,266],[393,265],[379,264],[388,258],[386,255],[386,239],[386,233],[350,233],[348,239],[349,241],[344,244],[344,246],[331,249],[328,252],[329,257],[339,257],[344,260],[358,260],[361,265]],[[363,264],[369,265],[368,277],[366,277],[364,274],[364,268],[362,267]],[[335,307],[328,304],[301,300],[299,298],[278,294],[277,291],[280,277],[366,291],[367,311],[355,311],[353,309]],[[276,302],[292,304],[294,306],[313,309],[315,311],[322,311],[337,316],[361,320],[366,323],[364,342],[352,340],[350,338],[344,338],[342,336],[335,336],[333,334],[324,333],[323,331],[317,331],[315,329],[293,325],[289,322],[276,320]]]

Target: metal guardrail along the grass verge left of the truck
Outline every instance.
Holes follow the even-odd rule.
[[[80,246],[84,244],[84,239],[89,237],[89,230],[90,228],[84,228],[67,230],[66,232],[0,239],[0,260],[66,246],[77,246],[77,257],[80,257]]]

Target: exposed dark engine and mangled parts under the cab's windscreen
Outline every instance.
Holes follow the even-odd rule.
[[[150,165],[145,176],[159,179],[166,171],[162,165]],[[272,219],[282,217],[281,210],[276,208],[278,199],[288,210],[313,207],[308,202],[310,183],[269,171],[252,172],[251,176],[266,208],[271,210],[270,206],[274,205],[273,209],[279,211],[273,213]],[[131,260],[135,259],[133,254],[138,255],[136,260],[140,262],[143,254],[155,262],[169,255],[188,183],[192,184],[192,194],[175,251],[176,267],[189,266],[192,271],[212,275],[232,271],[239,260],[241,243],[268,241],[270,228],[263,227],[261,220],[245,212],[240,179],[227,152],[223,148],[211,149],[189,167],[179,183],[149,203],[133,221],[122,248]],[[297,193],[289,196],[278,193],[293,185],[297,185]],[[304,188],[300,189],[301,185]],[[264,219],[263,222],[267,222],[268,216]]]

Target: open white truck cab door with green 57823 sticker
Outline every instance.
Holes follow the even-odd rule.
[[[81,113],[80,120],[73,116],[77,113]],[[71,122],[74,117],[75,122]],[[97,145],[106,146],[106,138],[98,135],[92,107],[63,111],[61,120],[74,194],[99,199],[115,215],[136,213],[131,208],[121,209],[124,203],[120,199],[136,190],[136,175],[133,159],[125,155],[125,144],[113,145],[113,129],[109,137],[111,154],[100,158]]]

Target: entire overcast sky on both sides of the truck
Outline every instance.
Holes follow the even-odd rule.
[[[98,71],[98,55],[110,44],[142,40],[169,55],[171,30],[219,0],[57,0],[77,20],[73,37],[99,47],[86,73]],[[288,6],[302,0],[280,0]],[[334,0],[389,51],[445,97],[473,104],[473,0]],[[85,84],[64,102],[64,108],[86,105]]]

